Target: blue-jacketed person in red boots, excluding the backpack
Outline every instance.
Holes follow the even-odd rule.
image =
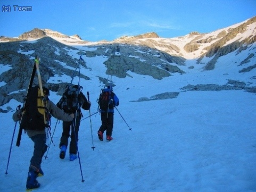
[[[110,103],[108,110],[100,109],[101,113],[101,127],[98,129],[98,139],[103,141],[103,134],[106,131],[106,140],[112,140],[113,124],[114,124],[114,107],[119,105],[119,99],[117,95],[113,93],[113,88],[108,86],[103,92],[108,91],[110,93]]]

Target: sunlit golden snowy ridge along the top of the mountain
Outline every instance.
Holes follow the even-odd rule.
[[[244,22],[234,24],[223,29],[218,29],[213,32],[200,34],[200,32],[190,32],[188,35],[183,37],[175,38],[161,38],[155,32],[147,32],[145,34],[136,36],[123,36],[112,41],[96,41],[89,42],[82,40],[79,35],[67,36],[60,32],[53,31],[50,29],[38,29],[35,28],[31,31],[24,32],[18,38],[6,38],[1,36],[0,41],[15,41],[15,40],[35,40],[43,37],[51,37],[55,40],[61,41],[64,44],[85,44],[85,45],[101,45],[101,44],[133,44],[142,45],[155,48],[157,47],[160,51],[166,51],[168,54],[182,56],[185,59],[195,59],[197,57],[211,57],[216,54],[218,49],[224,46],[228,41],[232,43],[232,39],[237,36],[237,34],[242,33],[247,26],[253,24],[254,32],[252,32],[252,37],[244,40],[248,44],[255,43],[256,41],[256,16],[251,19],[247,19]],[[189,39],[193,38],[189,41]],[[156,41],[157,39],[157,41]],[[182,39],[185,39],[186,44],[182,45]],[[237,39],[238,40],[238,39]],[[178,42],[178,44],[177,44]],[[179,45],[181,44],[181,45]],[[210,44],[210,45],[207,45]],[[206,46],[205,46],[206,45]],[[200,50],[200,52],[199,52]],[[192,54],[191,54],[192,53]],[[194,55],[194,56],[193,56]]]

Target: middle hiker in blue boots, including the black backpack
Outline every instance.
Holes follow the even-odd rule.
[[[77,158],[77,143],[78,143],[78,132],[80,127],[80,120],[82,117],[81,108],[84,110],[90,109],[90,102],[87,101],[85,95],[81,91],[82,87],[68,86],[61,97],[57,106],[64,112],[75,113],[76,116],[73,121],[63,121],[62,136],[60,139],[60,158],[65,158],[65,154],[68,147],[68,139],[70,137],[69,144],[69,160],[73,161]],[[71,129],[71,135],[70,135]]]

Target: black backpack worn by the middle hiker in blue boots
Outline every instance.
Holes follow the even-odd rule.
[[[79,94],[78,86],[67,86],[60,101],[57,103],[57,107],[65,113],[75,113],[81,105]]]

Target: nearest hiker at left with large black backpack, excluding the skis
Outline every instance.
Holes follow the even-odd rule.
[[[38,103],[41,99],[40,89],[38,86],[32,87],[30,93],[26,99],[26,108],[21,108],[13,114],[13,120],[15,122],[21,121],[22,129],[25,129],[28,137],[34,142],[34,153],[30,160],[30,166],[28,171],[28,178],[26,188],[27,190],[35,189],[40,187],[40,183],[37,181],[38,176],[43,176],[44,172],[41,168],[42,158],[47,151],[46,145],[46,130],[47,125],[44,124],[44,118],[38,112],[42,110],[42,106],[38,106]],[[72,121],[74,114],[67,114],[60,110],[51,100],[49,100],[49,90],[43,87],[44,99],[46,102],[46,108],[43,110],[47,111],[48,120],[51,118],[51,115],[56,119],[61,119],[63,121]],[[39,101],[38,101],[39,99]],[[33,102],[34,101],[34,102]],[[23,113],[23,117],[21,119]]]

